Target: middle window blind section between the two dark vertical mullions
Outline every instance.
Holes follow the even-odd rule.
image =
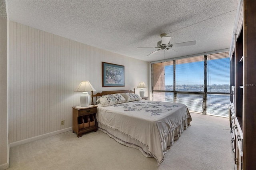
[[[204,92],[204,55],[175,61],[176,103],[185,104],[190,111],[202,113]],[[179,93],[187,92],[187,93]]]

